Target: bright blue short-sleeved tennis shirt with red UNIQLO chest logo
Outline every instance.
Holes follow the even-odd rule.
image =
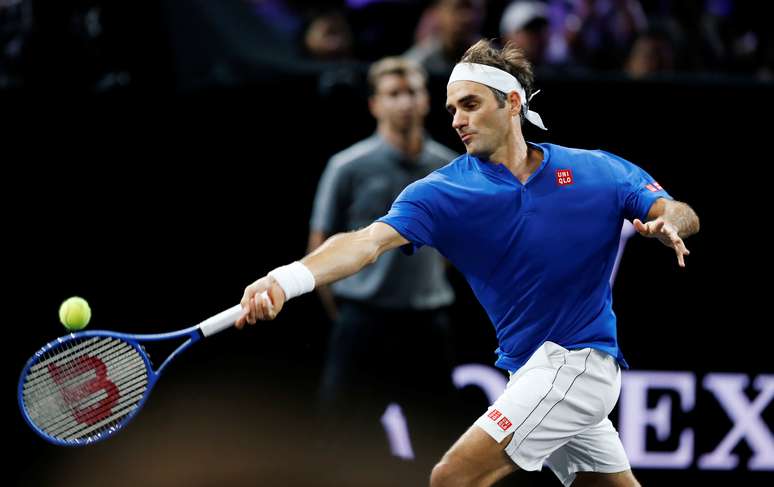
[[[404,252],[434,247],[462,272],[494,324],[498,367],[517,370],[545,341],[628,367],[609,284],[621,225],[671,197],[613,154],[530,145],[543,162],[524,184],[502,164],[462,155],[409,185],[377,221],[409,241]]]

